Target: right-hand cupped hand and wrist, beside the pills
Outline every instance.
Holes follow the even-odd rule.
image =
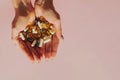
[[[56,12],[53,0],[36,0],[35,14],[37,17],[44,16],[50,23],[53,23],[56,29],[51,42],[45,44],[42,50],[46,58],[54,57],[57,53],[59,40],[62,37],[60,15]]]

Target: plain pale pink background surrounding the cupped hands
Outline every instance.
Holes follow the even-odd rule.
[[[120,1],[54,0],[65,40],[53,60],[31,64],[11,41],[14,9],[0,2],[0,80],[120,80]]]

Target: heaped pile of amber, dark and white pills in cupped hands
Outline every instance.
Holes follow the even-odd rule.
[[[40,16],[19,33],[19,38],[23,41],[29,41],[32,47],[42,47],[43,44],[51,41],[54,33],[54,25],[49,23],[43,16]]]

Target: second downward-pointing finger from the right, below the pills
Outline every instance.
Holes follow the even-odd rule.
[[[45,58],[50,58],[51,57],[51,54],[52,54],[52,41],[50,41],[49,43],[46,43],[45,44]]]

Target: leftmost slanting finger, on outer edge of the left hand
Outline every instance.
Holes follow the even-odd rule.
[[[25,41],[21,40],[20,38],[17,39],[18,43],[20,45],[20,47],[22,48],[23,51],[25,51],[25,53],[27,54],[28,58],[31,61],[34,61],[34,57],[32,52],[30,51],[29,47],[27,46],[27,44],[25,43]]]

